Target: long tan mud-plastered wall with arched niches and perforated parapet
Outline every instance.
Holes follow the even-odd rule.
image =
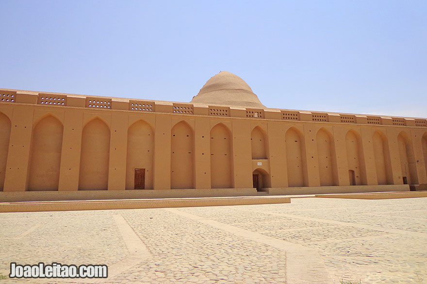
[[[0,190],[427,183],[427,120],[0,89]],[[4,98],[9,98],[7,101]],[[98,103],[99,102],[99,103]]]

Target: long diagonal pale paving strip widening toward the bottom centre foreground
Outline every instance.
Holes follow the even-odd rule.
[[[333,283],[328,269],[320,254],[315,249],[275,239],[260,233],[255,233],[230,224],[221,223],[208,218],[200,217],[177,209],[165,209],[182,217],[213,226],[239,237],[270,245],[286,251],[286,283],[290,284],[330,284]]]

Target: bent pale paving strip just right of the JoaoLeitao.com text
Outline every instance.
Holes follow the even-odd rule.
[[[113,218],[123,242],[129,251],[129,257],[108,267],[108,279],[113,279],[116,275],[131,269],[143,260],[152,259],[151,253],[128,222],[126,222],[125,218],[122,215],[113,215]],[[104,283],[105,281],[106,279],[102,278],[61,280],[63,283]]]

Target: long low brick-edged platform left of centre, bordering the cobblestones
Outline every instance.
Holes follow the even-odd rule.
[[[283,196],[2,202],[0,212],[147,209],[291,203]]]

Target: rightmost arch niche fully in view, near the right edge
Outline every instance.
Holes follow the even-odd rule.
[[[400,166],[402,169],[402,178],[408,184],[418,184],[417,168],[412,147],[411,136],[402,131],[397,136],[399,144]]]

